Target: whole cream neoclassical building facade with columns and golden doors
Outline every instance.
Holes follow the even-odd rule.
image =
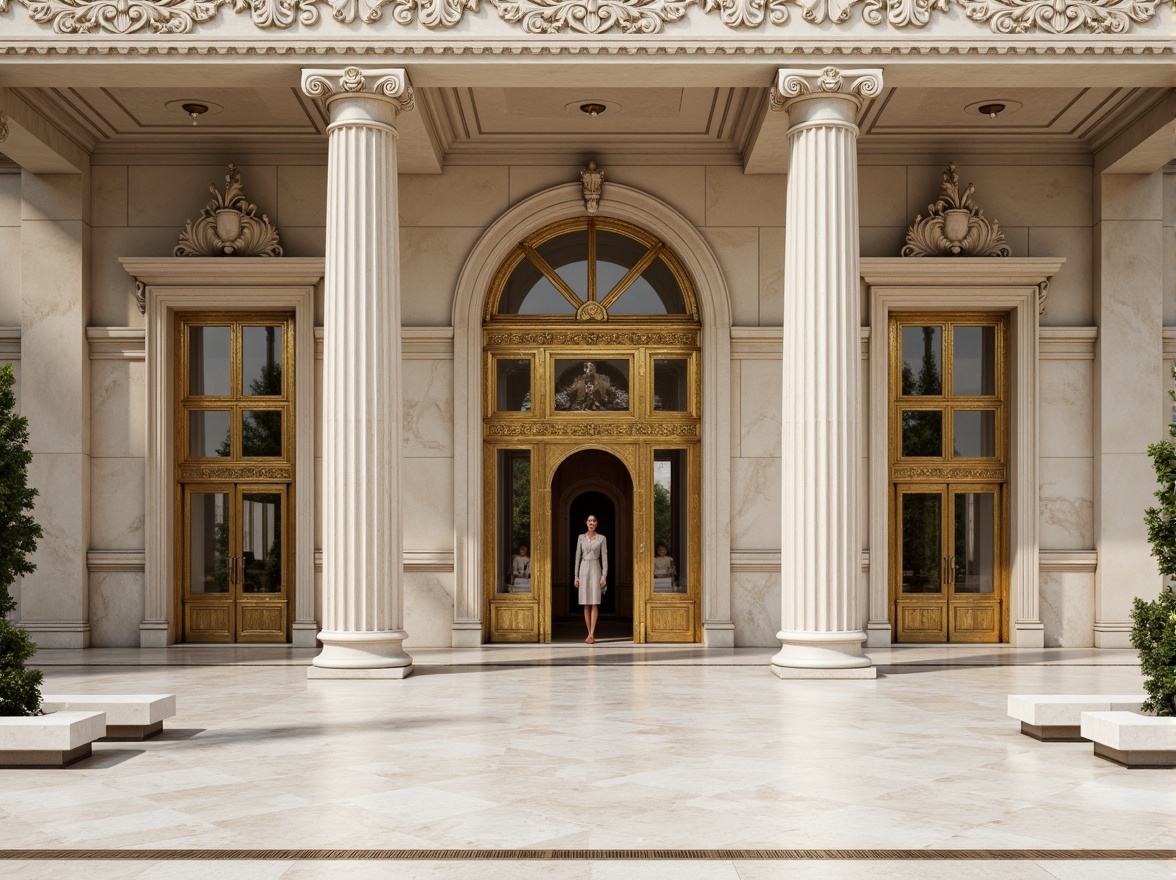
[[[44,647],[1128,645],[1155,0],[0,0]],[[211,192],[209,192],[211,191]]]

